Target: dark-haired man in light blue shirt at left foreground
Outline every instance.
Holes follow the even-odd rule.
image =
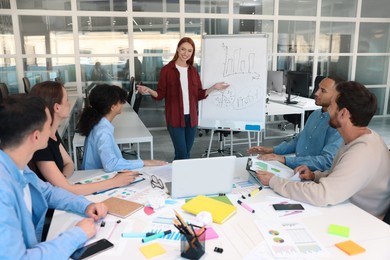
[[[96,234],[94,222],[107,214],[92,203],[42,182],[27,163],[47,146],[51,116],[35,96],[12,95],[0,104],[0,259],[68,259]],[[56,239],[41,242],[48,208],[85,218]]]

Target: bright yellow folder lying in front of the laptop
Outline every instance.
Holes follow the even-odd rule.
[[[218,224],[224,223],[237,211],[237,208],[233,205],[229,205],[225,202],[208,198],[203,195],[193,198],[185,203],[181,208],[194,215],[201,211],[208,211],[213,218],[213,222]]]

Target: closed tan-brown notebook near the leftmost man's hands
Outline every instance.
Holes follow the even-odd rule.
[[[144,207],[144,205],[140,203],[124,200],[116,197],[108,198],[102,202],[106,204],[109,214],[121,218],[126,218],[129,215],[133,214],[134,212]]]

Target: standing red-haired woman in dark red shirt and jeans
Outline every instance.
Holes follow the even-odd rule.
[[[198,125],[198,101],[214,90],[229,86],[225,82],[218,82],[208,89],[202,89],[198,71],[193,66],[194,56],[193,40],[182,38],[172,61],[161,69],[157,90],[138,85],[141,94],[150,94],[156,100],[165,98],[165,119],[175,148],[174,160],[190,158]]]

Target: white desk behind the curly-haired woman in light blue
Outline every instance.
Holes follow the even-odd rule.
[[[127,103],[123,106],[121,114],[117,115],[112,124],[115,127],[114,138],[117,144],[137,144],[139,158],[139,144],[150,143],[150,158],[153,160],[153,136],[138,117],[137,113]],[[73,137],[73,161],[77,168],[77,148],[84,146],[85,137],[75,133]]]

